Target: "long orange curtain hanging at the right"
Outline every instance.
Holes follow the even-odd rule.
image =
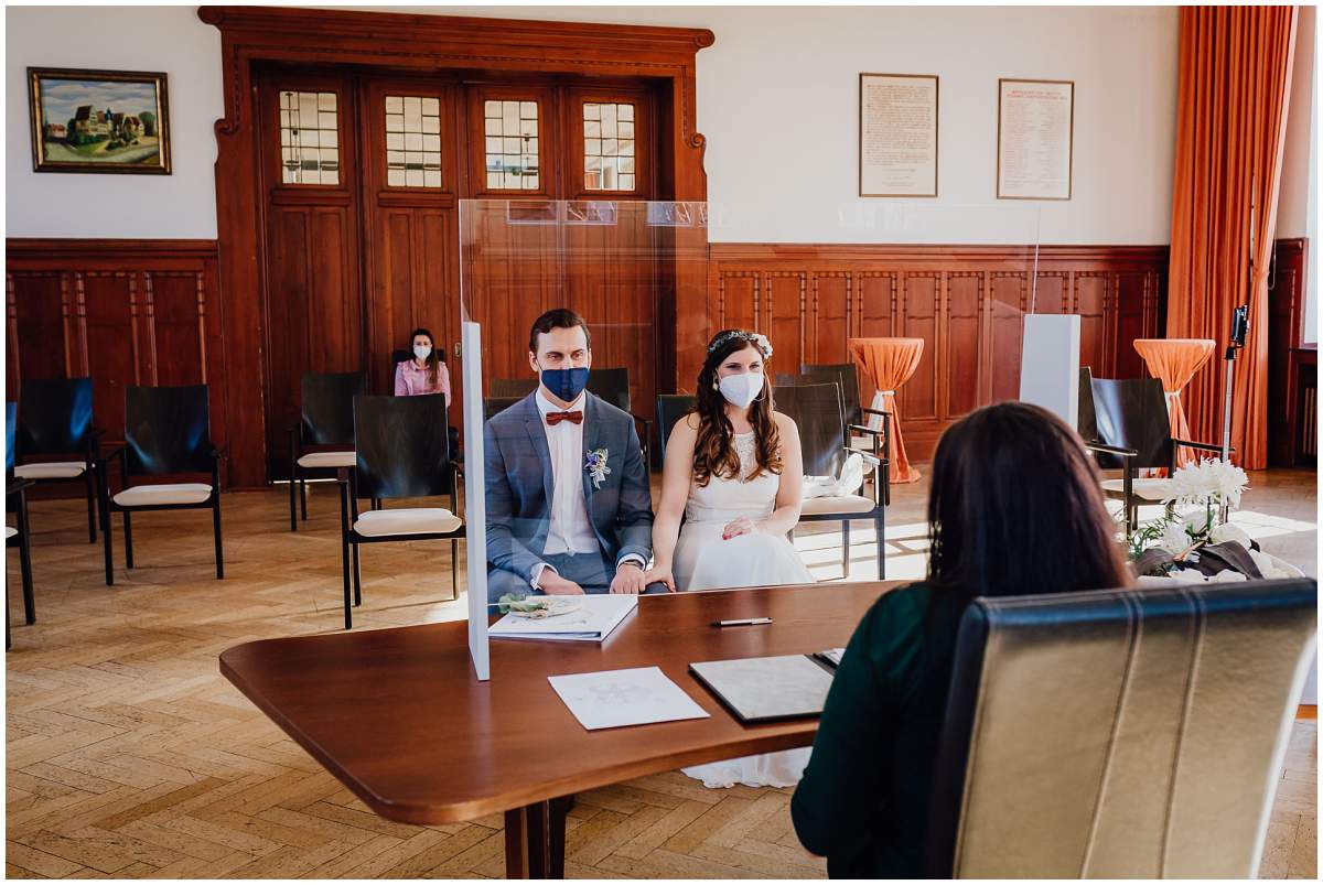
[[[1267,464],[1267,263],[1295,22],[1295,7],[1180,9],[1167,335],[1225,348],[1232,310],[1249,303],[1232,405],[1233,459],[1249,470]],[[1191,382],[1185,407],[1196,439],[1221,442],[1224,388],[1222,365]]]

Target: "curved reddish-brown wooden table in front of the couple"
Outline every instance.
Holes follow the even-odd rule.
[[[744,726],[692,661],[844,646],[897,582],[640,597],[602,644],[492,640],[474,677],[464,622],[266,639],[221,655],[221,673],[390,820],[441,824],[505,812],[509,877],[560,877],[568,802],[681,766],[812,743],[818,720]],[[720,618],[771,624],[716,628]],[[586,732],[548,676],[658,665],[710,718]]]

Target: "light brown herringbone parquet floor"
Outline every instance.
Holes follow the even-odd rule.
[[[1299,525],[1291,520],[1303,519],[1303,496],[1314,507],[1314,475],[1304,476],[1263,483],[1281,485],[1277,509],[1249,496],[1246,509]],[[922,571],[923,495],[922,487],[896,495],[894,577]],[[7,876],[503,874],[499,816],[445,827],[377,818],[221,679],[217,656],[233,644],[340,627],[333,495],[314,492],[311,521],[298,534],[286,530],[283,508],[279,492],[226,495],[225,581],[213,578],[205,512],[140,515],[138,568],[123,569],[116,536],[120,568],[107,589],[81,504],[32,504],[34,626],[22,624],[16,556],[8,570]],[[1282,544],[1306,545],[1301,532],[1283,530]],[[832,540],[828,532],[800,544],[823,578],[839,575]],[[1312,540],[1307,546],[1312,558]],[[856,549],[856,577],[868,577],[871,557],[869,546]],[[448,575],[447,544],[368,548],[356,627],[463,618],[463,603],[447,601]],[[1263,876],[1314,876],[1316,770],[1316,729],[1301,722]],[[790,794],[712,791],[679,773],[581,794],[568,824],[566,873],[822,877],[823,861],[804,853],[790,825]]]

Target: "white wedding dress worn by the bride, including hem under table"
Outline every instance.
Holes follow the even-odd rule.
[[[684,524],[675,545],[675,582],[679,590],[761,587],[782,583],[812,583],[794,545],[782,534],[740,534],[722,540],[726,524],[741,516],[758,521],[777,507],[781,476],[762,474],[745,479],[757,467],[753,431],[736,434],[741,479],[713,476],[706,485],[689,487]],[[683,769],[706,787],[792,787],[808,765],[812,747],[722,759]]]

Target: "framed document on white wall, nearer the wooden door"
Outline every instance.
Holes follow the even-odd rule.
[[[859,196],[937,196],[935,75],[859,75]]]

